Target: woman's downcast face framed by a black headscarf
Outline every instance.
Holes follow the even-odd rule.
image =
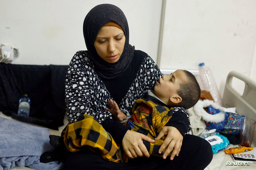
[[[94,42],[98,55],[109,63],[119,60],[124,50],[125,36],[122,29],[106,25],[101,27]]]

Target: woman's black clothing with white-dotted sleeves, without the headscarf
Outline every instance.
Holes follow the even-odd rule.
[[[162,76],[155,62],[144,52],[134,51],[129,68],[114,79],[98,76],[87,51],[79,51],[70,62],[66,77],[66,108],[70,123],[79,120],[79,115],[89,114],[100,123],[114,117],[105,110],[108,100],[114,99],[120,109],[131,113],[133,103],[142,98],[148,89],[154,89]],[[110,108],[110,107],[109,107]],[[171,119],[172,126],[184,135],[179,156],[150,156],[129,160],[128,163],[115,163],[91,152],[76,152],[65,161],[64,169],[204,169],[212,159],[212,150],[206,140],[187,134],[189,132],[188,113],[178,113]],[[185,126],[186,125],[186,126]],[[105,126],[104,126],[105,127]],[[106,129],[117,143],[122,143],[127,126],[116,121]],[[184,128],[185,127],[185,128]]]

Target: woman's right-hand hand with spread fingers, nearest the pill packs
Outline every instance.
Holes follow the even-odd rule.
[[[161,154],[163,152],[164,148],[167,147],[163,154],[163,159],[166,159],[166,156],[174,148],[172,155],[170,157],[170,160],[173,160],[175,155],[176,156],[179,155],[179,151],[180,151],[182,141],[183,141],[183,135],[180,133],[180,131],[177,128],[172,127],[172,126],[165,126],[160,131],[160,133],[155,138],[155,140],[159,140],[164,136],[166,136],[166,138],[159,149],[159,154]]]

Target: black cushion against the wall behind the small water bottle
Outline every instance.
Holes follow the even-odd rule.
[[[20,121],[51,129],[63,125],[67,65],[0,63],[0,111]],[[29,117],[17,115],[19,98],[31,99]]]

